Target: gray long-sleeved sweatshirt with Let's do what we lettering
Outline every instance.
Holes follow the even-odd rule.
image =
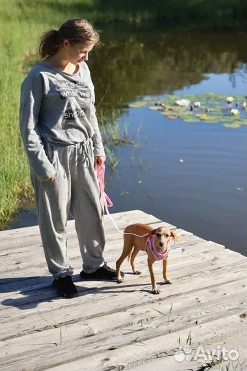
[[[89,67],[75,74],[49,63],[34,65],[21,85],[19,124],[27,157],[41,181],[55,175],[43,141],[64,145],[91,138],[94,155],[106,156],[95,115],[95,92]]]

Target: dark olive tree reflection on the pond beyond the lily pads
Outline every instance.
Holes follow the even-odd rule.
[[[207,74],[246,76],[247,33],[176,30],[102,33],[89,65],[98,109],[196,85]],[[239,76],[242,74],[242,76]]]

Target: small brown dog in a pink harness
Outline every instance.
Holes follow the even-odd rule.
[[[169,253],[169,242],[170,238],[174,238],[174,243],[178,240],[178,236],[171,232],[166,227],[158,227],[153,229],[150,225],[146,224],[132,224],[128,225],[124,229],[124,249],[123,252],[116,262],[117,269],[117,282],[124,282],[124,279],[120,274],[120,267],[127,256],[130,258],[130,264],[134,274],[141,274],[134,265],[134,259],[137,257],[137,254],[140,250],[147,251],[148,253],[148,268],[150,271],[151,281],[152,281],[152,291],[154,294],[159,294],[161,291],[158,289],[156,284],[156,278],[154,276],[153,265],[156,260],[163,260],[163,278],[165,284],[172,284],[167,276],[167,265],[168,265],[168,253]],[[129,234],[128,234],[129,233]],[[147,234],[145,237],[137,237],[132,234],[138,234],[142,236]],[[146,248],[147,239],[152,239],[152,247],[150,243],[148,244],[148,249]],[[132,250],[132,248],[134,249]]]

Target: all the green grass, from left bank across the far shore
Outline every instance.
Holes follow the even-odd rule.
[[[214,16],[239,20],[245,1],[117,1],[117,0],[1,0],[0,1],[0,229],[23,203],[33,200],[30,170],[19,134],[21,82],[36,61],[40,35],[69,18],[93,24],[110,21]]]

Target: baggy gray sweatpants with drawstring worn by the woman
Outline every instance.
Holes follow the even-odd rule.
[[[64,146],[43,141],[56,170],[54,181],[40,181],[30,171],[36,199],[40,236],[49,272],[54,278],[69,276],[67,218],[75,218],[83,271],[92,273],[104,265],[104,206],[94,169],[93,142]]]

